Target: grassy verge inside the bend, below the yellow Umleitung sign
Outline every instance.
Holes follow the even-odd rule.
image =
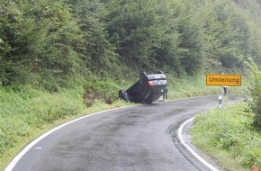
[[[194,120],[193,143],[230,171],[261,168],[261,134],[253,125],[247,103],[199,114]]]

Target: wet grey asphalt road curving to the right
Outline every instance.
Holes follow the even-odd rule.
[[[13,170],[211,170],[184,148],[177,129],[194,114],[217,106],[214,95],[99,112],[37,140],[13,161]]]

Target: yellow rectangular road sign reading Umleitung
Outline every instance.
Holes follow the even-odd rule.
[[[241,86],[241,75],[207,74],[206,85]]]

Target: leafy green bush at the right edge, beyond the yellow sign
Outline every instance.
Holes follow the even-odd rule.
[[[246,63],[249,67],[249,76],[245,95],[247,99],[251,98],[249,105],[252,111],[256,113],[256,126],[261,129],[261,71],[251,58],[248,58],[248,60],[249,62]]]

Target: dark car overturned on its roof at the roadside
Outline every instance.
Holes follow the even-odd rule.
[[[128,102],[153,103],[166,92],[166,87],[166,75],[163,72],[151,75],[143,72],[139,74],[139,81],[128,90],[120,90],[119,97]]]

